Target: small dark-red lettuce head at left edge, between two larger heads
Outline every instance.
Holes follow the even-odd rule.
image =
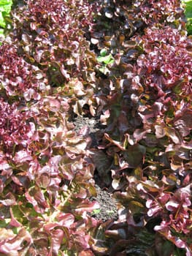
[[[5,42],[0,47],[0,88],[9,102],[38,100],[48,93],[45,73],[18,56],[15,45]]]

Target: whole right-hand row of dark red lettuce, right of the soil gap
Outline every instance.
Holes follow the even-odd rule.
[[[144,13],[153,17],[150,7],[142,7],[140,10],[147,12],[139,17]],[[158,3],[158,10],[162,14],[166,8]],[[107,15],[115,20],[112,12],[112,17]],[[159,20],[150,19],[153,23],[144,19],[140,31],[123,32],[126,36],[122,33],[118,37],[118,27],[112,26],[114,31],[104,37],[108,40],[104,46],[111,50],[115,62],[101,80],[104,89],[98,101],[101,121],[107,128],[94,158],[107,185],[112,178],[118,200],[120,223],[105,226],[100,245],[101,250],[110,248],[107,238],[114,239],[112,250],[104,252],[110,255],[161,255],[162,248],[166,248],[166,255],[177,255],[177,248],[181,255],[191,255],[191,39],[177,22],[175,27],[168,26],[168,17],[156,17]],[[101,18],[107,20],[104,15]],[[101,34],[94,35],[100,48]],[[150,246],[145,247],[143,233],[153,241]],[[134,243],[141,247],[130,248]]]

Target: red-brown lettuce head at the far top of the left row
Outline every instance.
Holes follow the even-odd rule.
[[[39,0],[12,11],[11,37],[18,54],[45,72],[53,94],[73,99],[77,114],[83,105],[92,105],[96,88],[97,61],[86,39],[93,6],[88,1]]]

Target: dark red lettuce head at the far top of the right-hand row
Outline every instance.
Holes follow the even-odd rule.
[[[91,42],[99,48],[109,47],[112,53],[134,34],[143,34],[148,26],[185,27],[180,1],[100,0],[98,5]]]

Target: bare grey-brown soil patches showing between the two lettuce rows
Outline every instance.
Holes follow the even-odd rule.
[[[104,126],[99,123],[98,118],[91,116],[77,116],[73,119],[74,130],[79,132],[83,127],[89,128],[89,136],[91,137],[91,148],[96,148],[97,140],[96,133],[101,129],[104,129]],[[118,209],[115,205],[115,200],[112,198],[112,192],[109,188],[104,187],[101,177],[98,175],[97,170],[94,173],[95,187],[97,196],[91,197],[91,200],[96,200],[100,208],[98,211],[91,214],[92,217],[100,219],[102,222],[106,222],[109,219],[116,220],[118,219]]]

